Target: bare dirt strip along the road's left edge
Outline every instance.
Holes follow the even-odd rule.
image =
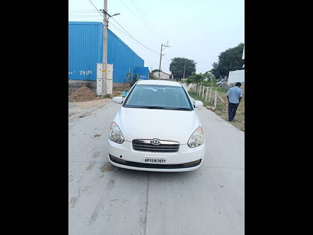
[[[111,98],[102,98],[83,102],[68,102],[68,117],[81,113],[86,109],[104,106],[111,100]]]

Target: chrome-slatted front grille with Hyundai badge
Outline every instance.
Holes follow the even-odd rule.
[[[154,145],[152,140],[134,140],[133,149],[143,152],[155,153],[175,153],[179,149],[179,142],[174,141],[159,141],[160,144]]]

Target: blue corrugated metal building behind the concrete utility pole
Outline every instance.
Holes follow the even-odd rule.
[[[96,63],[102,63],[102,52],[102,23],[68,22],[69,80],[96,81]],[[138,79],[149,79],[144,60],[111,30],[108,30],[108,64],[113,64],[113,83],[123,83],[129,69],[138,74]]]

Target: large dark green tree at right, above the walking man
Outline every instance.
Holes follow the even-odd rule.
[[[228,77],[229,71],[244,70],[245,59],[242,59],[244,44],[237,47],[228,48],[219,55],[218,63],[212,64],[212,73],[217,79]]]

